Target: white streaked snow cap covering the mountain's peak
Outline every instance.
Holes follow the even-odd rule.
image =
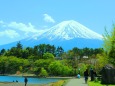
[[[50,40],[70,40],[73,38],[102,39],[100,34],[88,29],[87,27],[74,20],[63,21],[51,27],[47,32],[42,34],[42,37],[46,37]]]

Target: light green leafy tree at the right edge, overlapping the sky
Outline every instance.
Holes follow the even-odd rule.
[[[110,63],[115,65],[115,25],[111,33],[105,32],[104,35],[104,50],[107,54]]]

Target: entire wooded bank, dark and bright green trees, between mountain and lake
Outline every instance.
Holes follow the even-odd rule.
[[[79,49],[77,47],[64,52],[61,46],[55,47],[50,44],[24,48],[18,42],[16,47],[0,51],[0,73],[34,73],[39,76],[72,76],[78,72],[83,74],[86,67],[91,65],[85,65],[82,57],[95,58],[101,53],[103,53],[102,48]],[[83,63],[81,66],[78,66],[78,60]]]

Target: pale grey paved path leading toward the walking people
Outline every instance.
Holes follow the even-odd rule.
[[[73,78],[70,79],[65,86],[88,86],[85,84],[84,78]]]

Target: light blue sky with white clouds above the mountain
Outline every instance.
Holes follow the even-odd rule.
[[[0,45],[75,20],[104,34],[115,23],[115,0],[0,0]]]

